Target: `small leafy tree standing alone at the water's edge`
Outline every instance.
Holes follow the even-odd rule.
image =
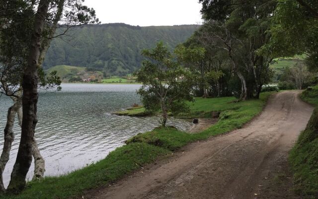
[[[147,59],[134,74],[136,82],[143,85],[137,91],[148,111],[161,110],[164,127],[168,112],[177,113],[188,109],[186,101],[192,101],[191,74],[175,60],[162,42],[154,49],[144,50]]]

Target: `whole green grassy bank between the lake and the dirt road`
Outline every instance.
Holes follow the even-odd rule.
[[[198,134],[188,134],[174,128],[158,128],[139,134],[127,145],[111,152],[105,159],[61,177],[46,177],[30,182],[27,189],[17,196],[0,196],[1,199],[68,199],[81,197],[85,190],[112,183],[117,179],[168,156],[172,151],[197,140],[240,128],[261,112],[271,93],[262,93],[260,100],[233,103],[234,98],[197,99],[191,105],[191,114],[208,116],[221,111],[218,123]]]

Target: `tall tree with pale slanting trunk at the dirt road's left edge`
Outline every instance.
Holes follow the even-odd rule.
[[[241,82],[240,99],[259,98],[262,85],[270,79],[269,63],[273,56],[270,51],[258,51],[269,42],[269,21],[277,0],[200,2],[207,24],[205,31],[202,28],[202,33],[205,33],[203,37],[206,43],[213,41],[214,46],[228,51],[233,70]],[[222,42],[216,42],[217,40]],[[220,45],[222,43],[223,46]]]

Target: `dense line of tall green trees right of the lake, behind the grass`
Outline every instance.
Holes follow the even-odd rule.
[[[303,0],[200,2],[205,22],[182,44],[188,52],[197,53],[197,59],[187,60],[185,67],[195,68],[202,76],[197,83],[199,96],[257,99],[262,86],[271,81],[274,71],[269,65],[278,57],[306,53],[307,66],[316,67],[317,18],[315,9],[310,8],[315,3]],[[298,82],[296,72],[305,71],[296,68],[289,70],[295,73],[290,77],[294,82]],[[219,71],[223,76],[217,80],[203,78],[211,71]],[[303,88],[308,84],[297,83],[296,87],[300,85]]]

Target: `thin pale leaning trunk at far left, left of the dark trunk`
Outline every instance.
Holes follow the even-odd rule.
[[[2,154],[0,157],[0,192],[5,191],[2,175],[3,175],[3,171],[4,171],[6,163],[9,161],[11,146],[14,140],[13,127],[14,127],[15,115],[17,111],[19,110],[19,108],[21,107],[21,103],[22,103],[21,98],[18,98],[18,99],[15,98],[13,105],[8,108],[6,125],[4,128],[4,144],[3,144]]]

